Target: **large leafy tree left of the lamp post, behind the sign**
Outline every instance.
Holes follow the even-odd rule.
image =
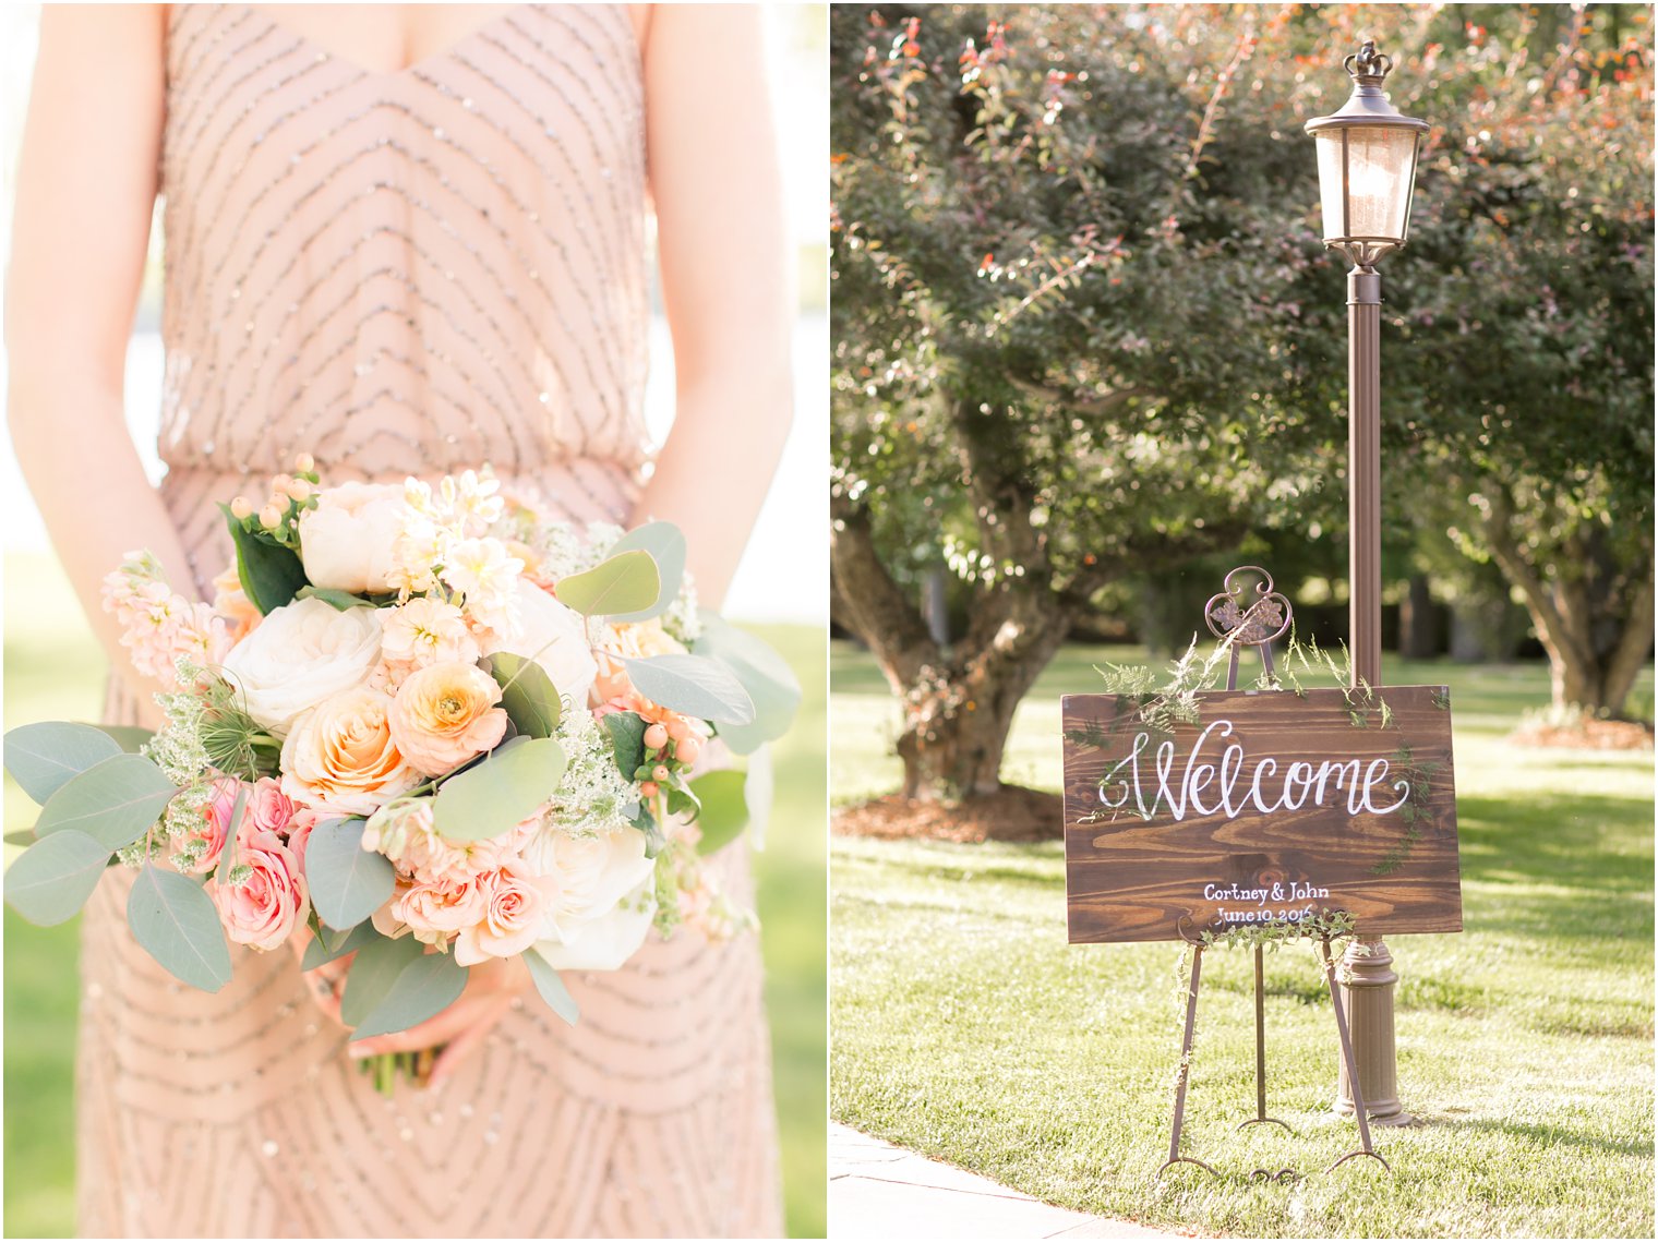
[[[998,788],[1104,585],[1340,506],[1340,274],[1292,109],[1245,90],[1270,23],[987,15],[831,17],[834,609],[904,703],[910,796]],[[968,594],[948,647],[933,556]]]

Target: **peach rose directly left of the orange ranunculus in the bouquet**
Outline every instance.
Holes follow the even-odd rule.
[[[315,811],[366,816],[419,784],[391,740],[391,696],[368,686],[325,698],[282,743],[282,793]]]

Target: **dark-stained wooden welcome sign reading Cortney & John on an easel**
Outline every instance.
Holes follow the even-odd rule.
[[[1197,698],[1167,733],[1131,696],[1064,696],[1071,944],[1320,910],[1363,935],[1462,930],[1444,686]]]

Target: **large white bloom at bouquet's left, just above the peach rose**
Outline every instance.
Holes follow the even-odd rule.
[[[380,662],[380,609],[295,600],[230,648],[224,673],[247,715],[282,738],[302,711],[368,680]]]

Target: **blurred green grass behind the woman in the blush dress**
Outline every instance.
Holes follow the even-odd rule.
[[[68,584],[48,557],[5,562],[5,726],[95,720],[103,660]],[[806,691],[799,720],[776,746],[778,799],[756,856],[766,1005],[783,1138],[788,1229],[826,1229],[824,988],[824,647],[811,627],[759,630],[794,667]],[[7,829],[33,822],[33,806],[5,781]],[[17,851],[7,847],[7,857]],[[43,930],[5,914],[5,1232],[75,1232],[76,924]]]

